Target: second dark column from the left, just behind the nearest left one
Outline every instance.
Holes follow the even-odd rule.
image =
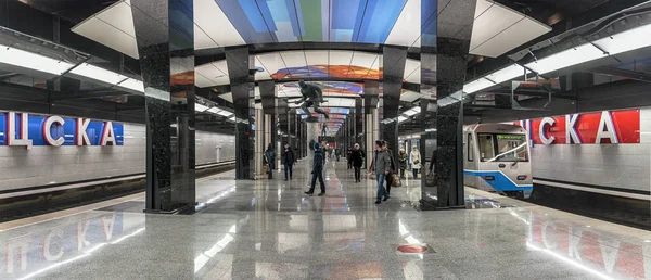
[[[235,107],[235,179],[255,179],[255,135],[251,129],[255,114],[254,77],[248,69],[255,56],[248,47],[226,49],[226,63]]]

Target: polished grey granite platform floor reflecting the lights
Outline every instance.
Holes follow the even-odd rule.
[[[202,179],[191,216],[145,215],[140,195],[2,230],[0,279],[651,278],[648,231],[472,189],[470,209],[419,212],[417,181],[375,205],[344,163],[307,196],[301,166],[292,181]]]

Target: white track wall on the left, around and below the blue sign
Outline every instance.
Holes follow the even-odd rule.
[[[144,173],[145,127],[125,125],[125,145],[0,147],[0,191]],[[196,131],[196,164],[234,160],[234,136]],[[200,143],[201,142],[201,143]]]

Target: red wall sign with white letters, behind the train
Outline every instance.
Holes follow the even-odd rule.
[[[621,144],[640,142],[640,111],[603,111],[515,122],[533,144]]]

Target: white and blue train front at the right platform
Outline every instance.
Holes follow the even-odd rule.
[[[478,124],[463,132],[465,186],[528,199],[534,189],[526,131],[515,125]]]

